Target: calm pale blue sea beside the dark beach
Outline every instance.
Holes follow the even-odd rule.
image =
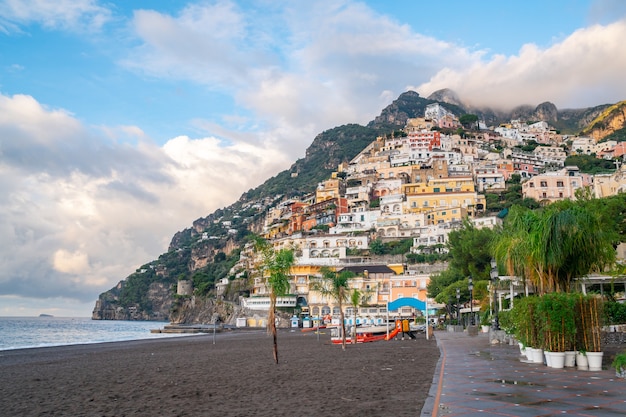
[[[0,350],[180,336],[150,333],[168,323],[67,317],[0,317]]]

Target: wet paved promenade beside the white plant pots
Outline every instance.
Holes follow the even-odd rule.
[[[626,416],[626,381],[614,369],[553,369],[520,361],[486,333],[435,333],[441,357],[422,417]]]

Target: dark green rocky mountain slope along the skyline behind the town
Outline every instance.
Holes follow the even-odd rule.
[[[92,317],[170,319],[173,312],[180,310],[173,295],[179,278],[192,279],[197,294],[209,294],[217,281],[228,276],[247,237],[261,232],[264,216],[270,207],[284,197],[302,196],[314,191],[317,184],[327,179],[340,163],[350,161],[377,136],[402,129],[409,118],[421,117],[426,106],[432,103],[440,103],[457,115],[469,113],[451,90],[435,92],[429,98],[408,91],[383,109],[367,126],[347,124],[320,133],[306,150],[305,157],[289,169],[243,193],[232,205],[197,219],[191,227],[177,232],[167,252],[102,293]],[[594,119],[598,126],[598,120],[608,120],[606,117],[609,116],[598,119],[601,114],[623,114],[611,113],[607,108],[610,106],[558,111],[552,103],[545,102],[536,107],[519,106],[508,114],[491,109],[472,110],[472,114],[495,125],[511,118],[528,121],[546,119],[554,126],[560,123],[568,130],[579,127],[576,130],[579,131],[581,124],[586,125]],[[246,290],[232,290],[227,298],[236,299],[240,294],[245,295]]]

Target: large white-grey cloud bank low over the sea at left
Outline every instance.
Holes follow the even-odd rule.
[[[29,96],[0,95],[0,115],[5,296],[95,300],[165,252],[193,219],[231,204],[288,164],[263,137],[258,144],[212,137],[177,137],[163,147],[145,138],[119,144]],[[107,131],[118,130],[142,136],[132,126]]]

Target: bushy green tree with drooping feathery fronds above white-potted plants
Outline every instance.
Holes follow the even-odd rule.
[[[545,294],[568,292],[573,278],[613,264],[614,240],[600,213],[563,201],[537,211],[514,206],[492,248],[509,275],[529,279]]]

